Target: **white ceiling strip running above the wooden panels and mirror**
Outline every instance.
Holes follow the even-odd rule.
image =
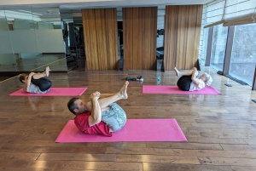
[[[166,5],[206,4],[213,0],[0,0],[0,8],[56,8],[61,14],[78,13],[81,9],[129,8],[158,6],[165,9]]]

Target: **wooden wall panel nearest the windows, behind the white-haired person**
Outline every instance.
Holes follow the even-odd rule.
[[[191,69],[200,43],[202,5],[166,6],[165,69]]]

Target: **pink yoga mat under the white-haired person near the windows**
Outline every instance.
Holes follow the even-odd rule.
[[[206,86],[199,91],[183,91],[177,86],[143,85],[143,94],[220,94],[220,92],[212,86]]]

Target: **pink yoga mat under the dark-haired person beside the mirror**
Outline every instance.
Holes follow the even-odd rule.
[[[45,94],[31,94],[26,93],[23,89],[19,89],[10,96],[80,96],[84,94],[87,88],[49,88],[49,92]]]

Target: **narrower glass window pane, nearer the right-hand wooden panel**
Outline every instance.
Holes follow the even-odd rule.
[[[228,28],[222,25],[213,27],[211,66],[220,71],[223,70],[224,65]]]

